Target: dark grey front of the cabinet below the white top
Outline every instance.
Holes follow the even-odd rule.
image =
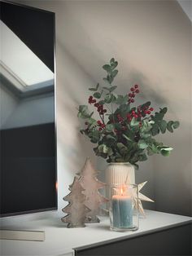
[[[191,226],[187,224],[92,248],[76,249],[75,255],[192,255]]]

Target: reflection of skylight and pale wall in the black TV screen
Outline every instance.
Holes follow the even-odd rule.
[[[54,73],[2,20],[0,25],[1,93],[6,101],[2,103],[2,129],[53,122]],[[7,106],[6,91],[12,108]]]

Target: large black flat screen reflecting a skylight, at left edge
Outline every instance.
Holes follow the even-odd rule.
[[[0,4],[1,216],[55,210],[55,14]]]

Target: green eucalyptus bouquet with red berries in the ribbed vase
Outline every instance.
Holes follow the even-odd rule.
[[[133,106],[139,86],[134,85],[126,95],[116,95],[117,86],[112,85],[118,70],[118,62],[112,58],[103,69],[107,77],[103,78],[106,86],[97,84],[89,88],[92,95],[88,103],[98,112],[99,120],[93,117],[94,111],[89,112],[87,105],[80,105],[78,117],[85,120],[85,128],[81,134],[89,137],[97,144],[94,152],[107,162],[146,161],[147,156],[160,153],[168,156],[172,148],[154,139],[160,132],[173,132],[179,126],[179,121],[165,121],[164,115],[168,108],[159,108],[154,113],[151,102]],[[137,165],[136,165],[137,166]]]

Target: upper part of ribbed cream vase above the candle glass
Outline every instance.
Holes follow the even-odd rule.
[[[133,165],[126,162],[110,163],[105,171],[108,186],[115,184],[134,184],[135,170]]]

